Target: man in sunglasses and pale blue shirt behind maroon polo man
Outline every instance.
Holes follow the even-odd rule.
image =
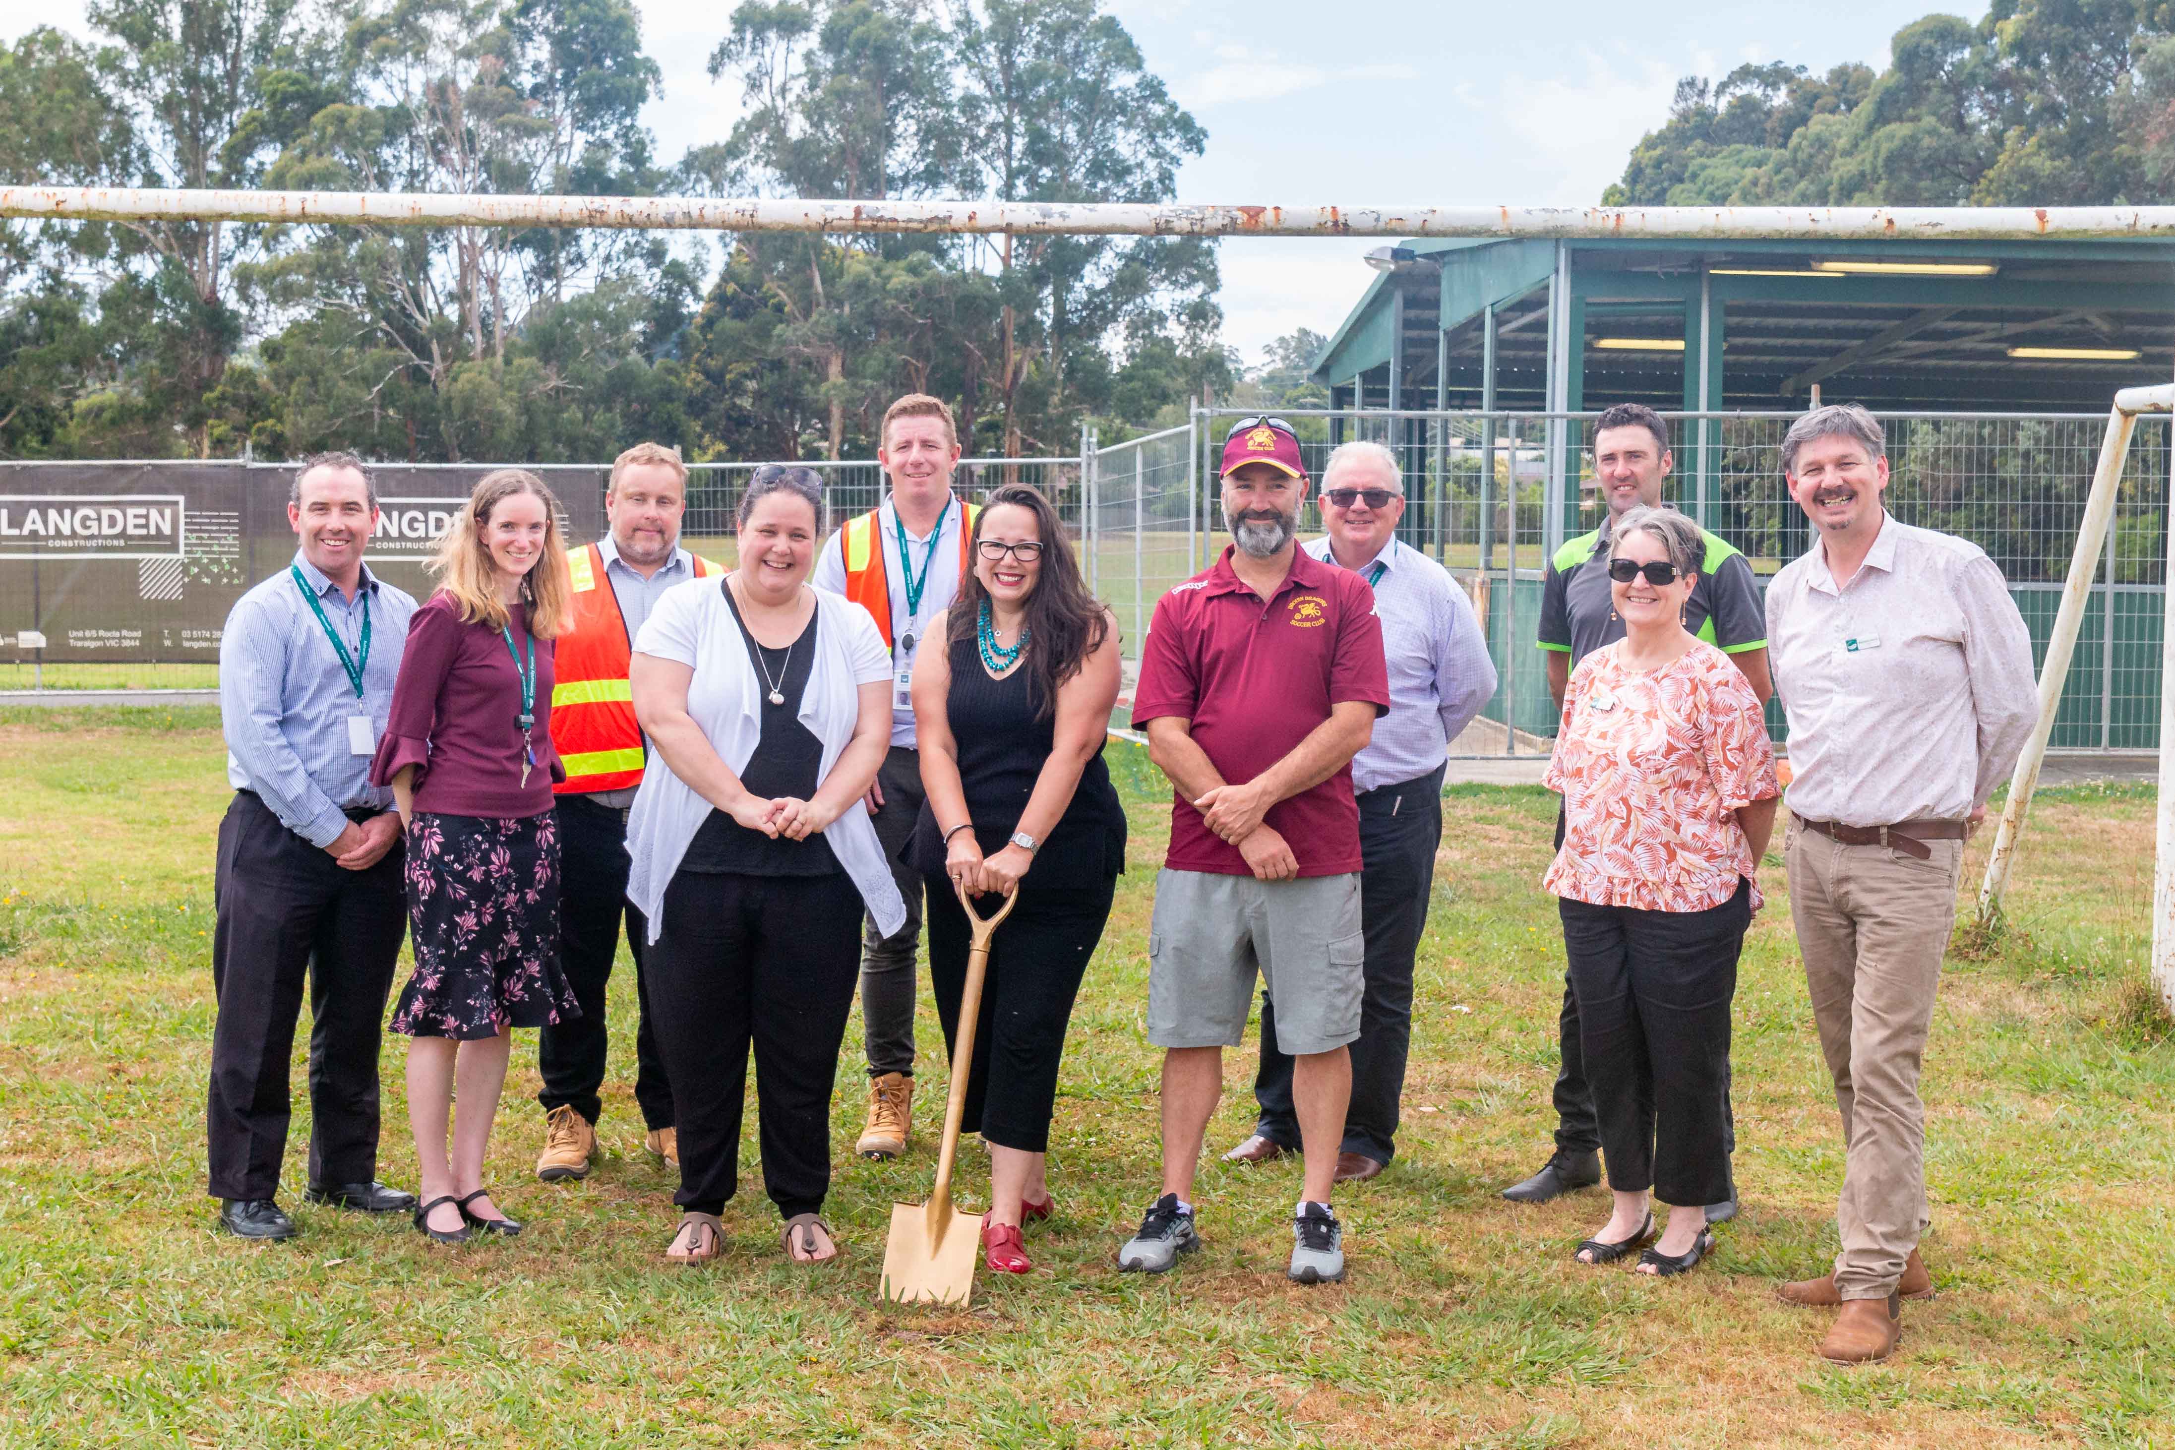
[[[1472,602],[1449,570],[1407,543],[1396,524],[1405,485],[1381,443],[1344,443],[1322,474],[1325,539],[1307,552],[1357,572],[1375,587],[1390,665],[1390,713],[1353,757],[1359,793],[1359,915],[1366,930],[1359,1041],[1351,1043],[1353,1096],[1344,1113],[1338,1183],[1379,1174],[1396,1152],[1399,1098],[1412,1046],[1412,970],[1442,846],[1442,770],[1449,743],[1494,696]],[[1253,1137],[1225,1154],[1266,1163],[1298,1146],[1292,1059],[1277,1050],[1275,1004],[1262,993],[1262,1104]]]

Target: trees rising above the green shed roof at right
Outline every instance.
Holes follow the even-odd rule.
[[[1925,15],[1890,63],[1677,83],[1603,204],[2092,207],[2175,180],[2175,4],[1994,0]]]

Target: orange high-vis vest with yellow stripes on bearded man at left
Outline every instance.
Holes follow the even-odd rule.
[[[722,574],[700,554],[696,578]],[[635,696],[626,687],[626,670],[635,646],[626,637],[626,617],[605,578],[605,550],[587,543],[566,557],[574,583],[574,628],[559,635],[552,657],[550,739],[566,765],[559,796],[620,791],[642,785],[642,726],[635,722]]]

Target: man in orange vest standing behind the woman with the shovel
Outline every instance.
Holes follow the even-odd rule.
[[[892,483],[881,507],[846,520],[816,559],[813,585],[866,609],[892,646],[892,752],[868,791],[877,839],[907,900],[907,924],[890,937],[861,928],[861,1024],[868,1037],[863,1159],[894,1159],[913,1130],[913,950],[922,935],[922,878],[898,857],[922,813],[922,765],[913,748],[913,650],[929,620],[959,593],[977,509],[953,498],[959,430],[950,407],[907,393],[883,413],[877,459]]]

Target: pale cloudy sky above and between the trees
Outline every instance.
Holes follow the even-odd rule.
[[[650,107],[659,157],[713,141],[733,87],[705,61],[718,0],[635,0],[663,67]],[[1109,0],[1148,67],[1207,128],[1179,176],[1185,202],[1592,204],[1640,135],[1662,124],[1677,76],[1742,61],[1888,61],[1927,0],[1666,7],[1555,0]],[[1949,7],[1971,20],[1984,4]],[[83,0],[0,7],[0,35],[33,22],[83,33]],[[1227,241],[1225,341],[1251,365],[1272,337],[1331,330],[1366,287],[1372,241]]]

